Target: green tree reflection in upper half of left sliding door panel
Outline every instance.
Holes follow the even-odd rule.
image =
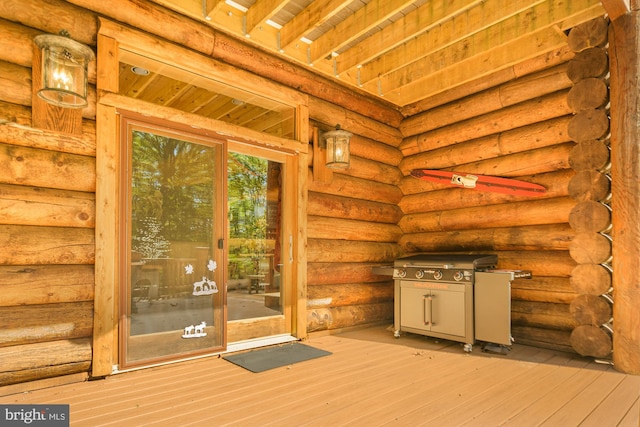
[[[207,242],[213,221],[214,149],[151,133],[133,132],[132,235],[152,218],[156,238]]]

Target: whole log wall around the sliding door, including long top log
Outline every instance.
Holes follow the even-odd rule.
[[[275,56],[253,51],[258,59],[247,61],[237,41],[163,8],[125,0],[105,5],[98,0],[0,5],[0,386],[87,372],[91,364],[99,244],[96,63],[89,66],[89,105],[82,110],[79,134],[32,126],[31,66],[33,38],[60,28],[95,49],[98,15],[308,93],[315,124],[328,130],[340,123],[355,134],[352,167],[310,188],[309,276],[317,286],[309,292],[309,329],[390,320],[391,282],[376,282],[380,278],[370,270],[399,255],[402,174],[396,147],[402,115]],[[158,25],[166,18],[170,27]],[[327,234],[331,229],[335,232]],[[324,278],[315,276],[325,264],[338,268],[328,268]],[[341,271],[341,279],[326,279]]]

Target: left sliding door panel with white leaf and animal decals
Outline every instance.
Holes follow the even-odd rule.
[[[120,365],[225,347],[222,143],[123,118]]]

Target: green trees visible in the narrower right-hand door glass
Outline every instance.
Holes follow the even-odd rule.
[[[268,161],[264,159],[229,153],[229,232],[232,238],[266,238],[267,165]]]

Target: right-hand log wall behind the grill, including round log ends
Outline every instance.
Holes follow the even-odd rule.
[[[606,28],[604,19],[582,24],[566,47],[514,66],[514,79],[495,85],[488,76],[458,99],[434,99],[403,122],[400,146],[402,250],[495,253],[499,268],[531,270],[532,279],[512,284],[515,340],[598,357],[611,352],[601,327],[611,314]],[[452,188],[412,169],[509,177],[547,192]]]

